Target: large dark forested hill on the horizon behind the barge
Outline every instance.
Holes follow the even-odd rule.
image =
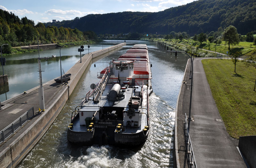
[[[233,25],[239,34],[245,35],[256,30],[256,1],[198,0],[160,12],[90,14],[45,25],[93,30],[96,34],[169,34],[175,31],[187,32],[191,36]]]

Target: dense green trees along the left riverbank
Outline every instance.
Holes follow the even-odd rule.
[[[82,40],[87,41],[89,39],[99,41],[93,31],[82,32],[76,28],[45,27],[40,22],[35,25],[34,21],[27,17],[20,19],[12,12],[9,13],[0,9],[0,44],[9,44],[2,48],[2,52],[5,54],[33,52],[35,50],[12,49],[12,47],[37,44],[37,40],[39,44],[70,42],[78,44]]]

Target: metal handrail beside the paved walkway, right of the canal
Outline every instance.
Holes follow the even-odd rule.
[[[185,142],[189,145],[188,155],[191,154],[191,162],[190,162],[190,158],[188,157],[189,164],[193,165],[195,168],[197,168],[197,166],[196,166],[196,159],[195,159],[195,156],[194,156],[194,152],[193,152],[193,148],[192,148],[192,143],[191,143],[190,136],[189,136],[188,122],[187,122],[187,115],[186,115],[186,113],[185,113],[185,121],[184,121],[184,134],[185,134]]]

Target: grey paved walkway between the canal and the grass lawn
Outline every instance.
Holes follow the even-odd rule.
[[[221,120],[220,113],[212,98],[212,92],[207,82],[201,60],[194,59],[193,91],[190,122],[190,138],[197,167],[246,167],[237,150],[238,140],[229,136]],[[190,84],[190,60],[185,72],[184,81]],[[188,116],[190,90],[182,84],[177,106],[177,140],[180,167],[188,165],[186,145],[184,143],[184,119]]]

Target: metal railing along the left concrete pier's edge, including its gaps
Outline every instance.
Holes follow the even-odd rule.
[[[4,140],[11,136],[15,131],[17,131],[22,125],[24,125],[34,116],[34,107],[32,107],[12,124],[5,127],[2,131],[0,131],[0,143],[4,142]]]

